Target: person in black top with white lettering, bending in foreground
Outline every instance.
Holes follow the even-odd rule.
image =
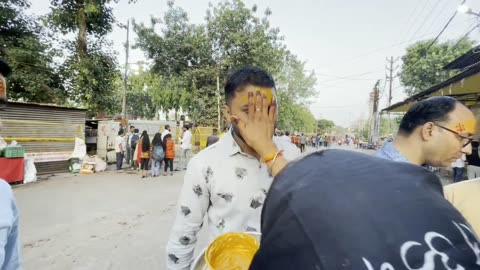
[[[480,242],[433,173],[362,153],[284,168],[261,229],[250,270],[480,269]]]

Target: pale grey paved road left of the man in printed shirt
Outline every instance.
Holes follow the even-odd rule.
[[[62,174],[14,187],[24,268],[164,269],[182,176]]]

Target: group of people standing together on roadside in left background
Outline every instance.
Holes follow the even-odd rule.
[[[191,155],[191,141],[190,127],[184,126],[180,139],[179,166],[175,168],[176,171],[186,170]],[[123,160],[126,160],[132,170],[141,172],[141,178],[149,175],[151,177],[160,176],[162,167],[164,176],[167,175],[168,170],[170,170],[170,175],[173,175],[176,149],[169,125],[165,125],[162,133],[155,133],[152,140],[146,130],[139,134],[139,130],[134,126],[130,126],[128,132],[120,129],[115,138],[115,152],[117,170],[122,170]]]

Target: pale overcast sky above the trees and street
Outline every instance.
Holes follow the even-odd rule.
[[[49,12],[49,0],[32,0],[30,11],[36,15]],[[176,0],[192,23],[204,23],[208,3],[219,0]],[[461,0],[244,0],[247,7],[257,5],[259,16],[268,7],[270,23],[278,27],[287,48],[306,62],[317,76],[317,98],[310,110],[317,119],[333,120],[350,126],[368,117],[368,98],[377,80],[385,83],[386,57],[394,59],[419,40],[434,38],[453,15]],[[466,5],[480,12],[480,1],[467,0]],[[150,16],[162,16],[167,0],[127,0],[113,4],[119,22],[134,18],[149,22]],[[463,37],[478,22],[469,14],[459,13],[441,35],[440,41]],[[125,62],[126,30],[115,27],[109,35],[118,52],[119,63]],[[478,30],[470,38],[480,41]],[[130,31],[130,41],[135,34]],[[475,44],[478,44],[476,42]],[[140,50],[130,51],[130,63],[145,60]],[[401,60],[396,63],[401,66]],[[387,84],[388,85],[388,84]],[[387,93],[381,95],[380,108],[387,105]],[[393,81],[392,103],[406,96],[398,78]]]

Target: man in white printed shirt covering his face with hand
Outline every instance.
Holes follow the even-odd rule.
[[[300,155],[293,144],[273,137],[275,98],[275,83],[260,68],[242,68],[228,79],[224,115],[232,129],[188,164],[167,245],[168,269],[190,269],[205,215],[210,239],[231,231],[260,232],[273,176]]]

